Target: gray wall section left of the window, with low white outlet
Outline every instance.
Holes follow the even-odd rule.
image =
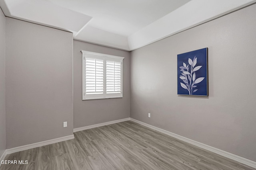
[[[6,18],[7,149],[73,134],[72,50],[72,33]]]

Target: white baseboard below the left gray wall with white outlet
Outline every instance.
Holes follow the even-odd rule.
[[[56,139],[50,139],[48,141],[42,141],[42,142],[38,142],[38,143],[32,143],[32,144],[29,144],[29,145],[15,147],[15,148],[11,148],[11,149],[6,149],[6,154],[11,154],[11,153],[15,153],[15,152],[20,152],[22,150],[42,147],[42,146],[45,146],[45,145],[50,145],[50,144],[53,144],[53,143],[67,141],[67,140],[70,140],[70,139],[74,139],[74,135],[69,135],[69,136],[60,137],[60,138],[56,138]]]

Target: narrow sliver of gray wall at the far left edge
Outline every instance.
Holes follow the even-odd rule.
[[[5,127],[5,16],[0,9],[0,157],[6,149]]]

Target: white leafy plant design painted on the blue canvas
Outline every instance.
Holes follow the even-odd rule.
[[[204,80],[205,77],[196,78],[196,71],[198,71],[202,66],[196,66],[197,57],[194,59],[188,59],[188,64],[183,63],[183,66],[180,66],[182,73],[180,75],[180,79],[185,83],[180,82],[180,86],[186,90],[188,90],[189,95],[193,95],[194,92],[200,90],[200,86],[197,87],[195,84],[198,84]],[[193,89],[196,88],[197,89]]]

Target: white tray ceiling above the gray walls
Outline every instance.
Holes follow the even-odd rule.
[[[1,0],[8,17],[132,51],[256,0]]]

